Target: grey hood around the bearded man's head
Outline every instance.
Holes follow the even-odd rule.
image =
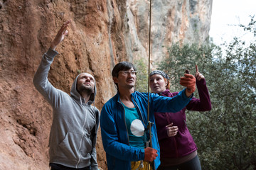
[[[82,73],[81,73],[82,74]],[[71,90],[70,90],[70,94],[73,98],[75,98],[75,100],[77,101],[81,101],[82,96],[79,94],[78,90],[77,90],[77,82],[78,82],[78,77],[80,76],[80,74],[78,74],[77,77],[75,77],[75,80],[71,86]],[[95,79],[93,77],[93,79]],[[94,103],[95,101],[95,96],[96,96],[96,81],[95,81],[95,87],[94,87],[94,93],[91,94],[90,99],[88,101],[88,104],[91,105],[92,103]],[[84,100],[82,100],[82,103],[85,103]]]

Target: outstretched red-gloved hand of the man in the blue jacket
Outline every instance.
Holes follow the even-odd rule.
[[[181,86],[186,86],[186,96],[189,97],[196,91],[196,78],[192,74],[184,74],[180,80]]]

